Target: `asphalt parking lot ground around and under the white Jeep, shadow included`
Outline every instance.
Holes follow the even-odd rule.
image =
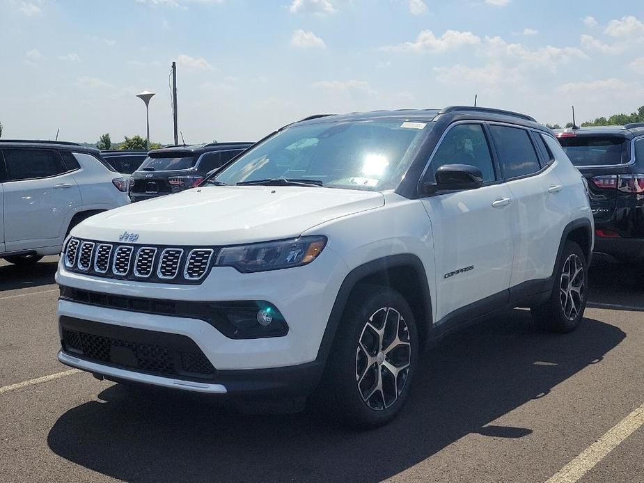
[[[2,482],[644,481],[641,267],[597,262],[575,333],[512,310],[444,340],[400,417],[353,432],[315,409],[240,414],[69,371],[56,361],[56,260],[0,262]]]

